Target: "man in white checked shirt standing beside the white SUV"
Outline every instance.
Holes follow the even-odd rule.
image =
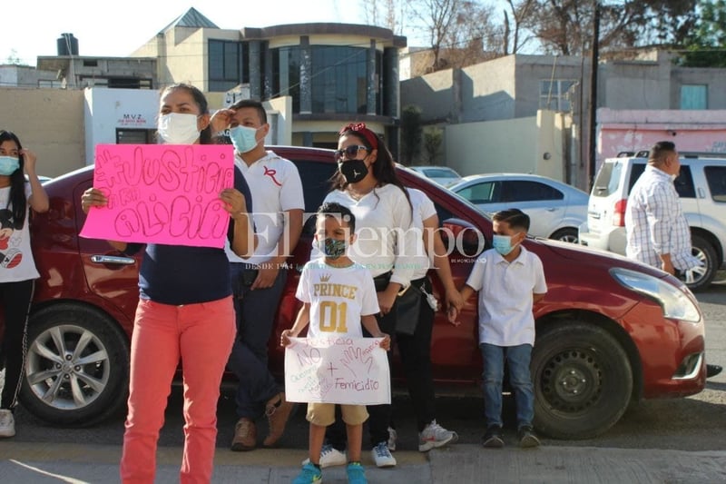
[[[627,256],[669,274],[701,265],[692,255],[691,231],[673,186],[680,171],[675,144],[655,143],[625,210]]]

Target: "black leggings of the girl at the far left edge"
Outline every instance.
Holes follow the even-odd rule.
[[[0,345],[0,367],[5,368],[5,387],[0,409],[13,410],[20,392],[27,351],[28,311],[33,299],[34,280],[0,283],[5,307],[5,335]]]

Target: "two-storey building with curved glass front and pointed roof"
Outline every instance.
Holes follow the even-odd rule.
[[[406,38],[369,25],[220,29],[191,8],[132,56],[157,60],[160,84],[292,99],[291,142],[335,146],[340,125],[365,122],[397,151],[398,50]],[[217,106],[221,107],[221,106]]]

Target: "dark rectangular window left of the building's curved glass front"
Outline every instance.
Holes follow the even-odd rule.
[[[211,92],[223,93],[237,84],[245,82],[244,61],[248,52],[247,44],[210,40],[209,83]]]

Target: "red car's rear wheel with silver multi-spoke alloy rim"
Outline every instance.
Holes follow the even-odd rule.
[[[101,311],[57,304],[28,321],[20,398],[36,417],[58,425],[92,425],[126,403],[129,345]]]

